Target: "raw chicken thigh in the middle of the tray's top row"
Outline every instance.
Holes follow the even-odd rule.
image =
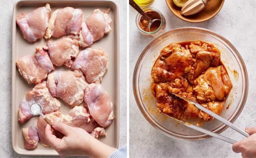
[[[81,9],[65,7],[57,9],[51,15],[49,26],[45,33],[45,38],[62,37],[67,35],[78,35],[83,20],[83,12]]]

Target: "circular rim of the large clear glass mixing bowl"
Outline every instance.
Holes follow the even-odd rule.
[[[247,69],[245,66],[245,63],[241,57],[241,55],[239,54],[238,50],[234,47],[233,44],[231,44],[226,38],[210,31],[207,29],[203,29],[203,28],[197,28],[197,27],[183,27],[183,28],[177,28],[177,29],[172,29],[158,37],[156,37],[155,39],[151,40],[149,42],[149,44],[144,48],[144,50],[141,52],[135,68],[134,68],[134,72],[133,72],[133,94],[136,100],[136,103],[141,111],[141,113],[143,114],[143,116],[145,117],[145,119],[155,128],[157,128],[158,130],[160,130],[161,132],[163,132],[164,134],[173,137],[173,138],[177,138],[177,139],[186,139],[186,140],[201,140],[201,139],[206,139],[209,138],[210,136],[207,134],[201,134],[201,135],[194,135],[194,136],[186,136],[186,135],[179,135],[177,133],[171,132],[169,130],[167,130],[166,128],[162,127],[160,124],[158,124],[149,113],[146,112],[145,106],[143,105],[142,102],[142,98],[140,96],[140,90],[139,90],[139,86],[138,86],[138,82],[139,82],[139,74],[140,74],[140,70],[141,70],[141,63],[144,59],[144,56],[146,55],[147,50],[154,44],[156,44],[156,42],[158,41],[158,39],[164,39],[167,36],[170,36],[173,33],[182,33],[182,32],[200,32],[200,33],[206,33],[209,36],[211,36],[212,38],[215,38],[217,40],[219,40],[220,42],[222,42],[225,46],[227,46],[231,52],[234,54],[236,60],[238,61],[240,68],[241,68],[241,72],[244,72],[244,75],[241,75],[242,77],[242,81],[243,81],[243,92],[242,92],[242,97],[241,100],[239,101],[237,108],[234,112],[234,114],[230,117],[229,121],[230,122],[234,122],[237,117],[240,115],[240,113],[242,112],[246,99],[247,99],[247,95],[248,95],[248,74],[247,74]],[[212,131],[215,133],[221,133],[223,132],[225,129],[227,129],[228,126],[225,124],[220,125],[219,127],[213,129]]]

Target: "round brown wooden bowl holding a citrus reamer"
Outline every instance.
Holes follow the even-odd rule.
[[[210,2],[208,2],[206,7],[202,11],[194,15],[184,16],[180,14],[181,8],[177,7],[173,3],[173,0],[165,0],[165,1],[169,9],[172,11],[174,15],[176,15],[178,18],[184,21],[191,22],[191,23],[200,23],[213,18],[216,14],[219,13],[224,3],[224,0],[211,0]]]

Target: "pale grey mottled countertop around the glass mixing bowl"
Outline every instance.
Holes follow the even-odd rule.
[[[256,57],[255,36],[256,1],[226,0],[221,11],[211,20],[203,23],[188,23],[172,14],[164,0],[155,0],[152,7],[160,10],[166,19],[166,31],[179,27],[201,27],[212,30],[228,39],[240,52],[249,77],[249,92],[244,110],[234,122],[244,129],[256,126],[255,86]],[[129,146],[130,157],[241,157],[232,151],[232,146],[216,138],[201,141],[186,141],[170,138],[151,126],[141,114],[132,91],[132,75],[135,63],[142,49],[152,40],[143,37],[135,25],[136,11],[129,8]],[[227,129],[222,135],[235,140],[243,136]]]

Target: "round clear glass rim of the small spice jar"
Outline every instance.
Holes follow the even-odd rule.
[[[157,12],[158,14],[159,14],[159,16],[160,16],[160,20],[161,20],[161,24],[160,24],[160,26],[159,26],[159,28],[157,29],[157,30],[155,30],[155,31],[153,31],[153,32],[146,32],[146,31],[144,31],[144,30],[142,30],[141,28],[140,28],[140,26],[139,26],[139,21],[140,21],[140,18],[142,17],[142,15],[140,15],[140,13],[138,13],[137,14],[137,16],[136,16],[136,18],[135,18],[135,23],[136,23],[136,26],[137,26],[137,28],[139,29],[139,31],[141,32],[141,33],[143,33],[143,34],[145,34],[145,35],[154,35],[155,33],[157,33],[158,31],[160,31],[161,29],[162,29],[162,27],[163,27],[163,25],[164,25],[164,21],[165,21],[165,19],[164,19],[164,16],[163,16],[163,14],[159,11],[159,10],[157,10],[156,8],[153,8],[153,7],[145,7],[145,8],[143,8],[142,9],[144,12],[145,11],[148,11],[148,10],[153,10],[153,11],[155,11],[155,12]]]

